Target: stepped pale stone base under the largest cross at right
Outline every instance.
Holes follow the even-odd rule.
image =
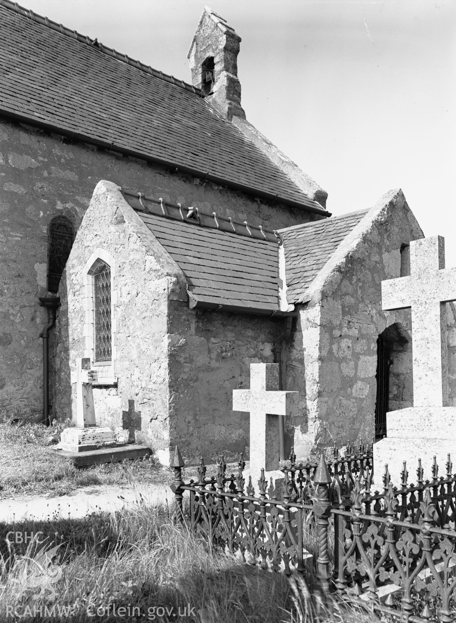
[[[383,486],[384,466],[388,464],[393,486],[401,485],[402,464],[406,461],[409,478],[417,482],[418,459],[424,480],[432,478],[434,455],[439,476],[446,473],[448,454],[456,472],[456,407],[408,407],[386,414],[388,437],[374,444],[375,487]]]

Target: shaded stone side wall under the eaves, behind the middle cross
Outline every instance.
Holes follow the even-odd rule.
[[[190,310],[171,302],[170,443],[185,462],[249,457],[249,414],[233,411],[233,389],[250,386],[250,364],[272,363],[283,319]]]

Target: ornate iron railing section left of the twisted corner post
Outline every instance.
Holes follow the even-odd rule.
[[[286,573],[305,568],[302,526],[304,515],[314,510],[310,504],[293,502],[291,482],[286,480],[284,490],[269,485],[261,470],[259,495],[243,477],[245,462],[241,456],[237,475],[226,476],[225,461],[217,464],[216,478],[206,478],[206,467],[201,460],[198,482],[185,484],[182,480],[184,462],[176,449],[172,488],[177,501],[177,515],[182,520],[182,497],[190,493],[190,522],[192,529],[249,563],[258,563],[272,569],[282,568]],[[294,495],[297,498],[296,495]]]

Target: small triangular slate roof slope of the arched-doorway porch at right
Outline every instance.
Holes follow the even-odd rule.
[[[368,211],[278,230],[284,241],[288,303],[305,301],[310,283]]]

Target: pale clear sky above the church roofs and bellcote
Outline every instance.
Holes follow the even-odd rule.
[[[207,1],[242,38],[248,121],[328,192],[327,209],[365,209],[402,188],[456,266],[456,2]],[[204,4],[24,0],[187,82]]]

